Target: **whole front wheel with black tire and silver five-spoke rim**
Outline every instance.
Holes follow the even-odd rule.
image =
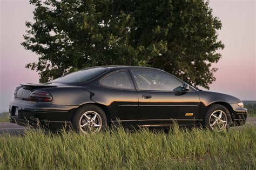
[[[227,130],[231,123],[228,109],[223,105],[214,104],[208,108],[204,117],[204,127],[212,131]]]

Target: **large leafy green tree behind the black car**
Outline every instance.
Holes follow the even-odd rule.
[[[40,82],[88,66],[163,69],[194,86],[215,80],[224,45],[208,2],[170,0],[35,1],[22,45],[39,55]]]

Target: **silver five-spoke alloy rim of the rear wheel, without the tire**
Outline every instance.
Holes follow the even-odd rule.
[[[83,133],[98,132],[102,128],[102,117],[95,111],[87,111],[80,117],[79,127]]]

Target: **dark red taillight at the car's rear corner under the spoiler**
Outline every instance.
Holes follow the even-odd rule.
[[[29,95],[30,101],[51,101],[52,96],[49,92],[44,90],[35,90]]]

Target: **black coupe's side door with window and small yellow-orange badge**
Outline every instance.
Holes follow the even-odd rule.
[[[131,70],[138,91],[139,126],[192,125],[199,120],[199,97],[184,83],[164,71]]]

